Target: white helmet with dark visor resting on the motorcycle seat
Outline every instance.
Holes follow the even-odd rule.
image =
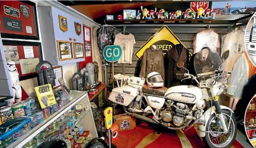
[[[162,80],[162,76],[157,72],[149,73],[146,82],[149,87],[163,87],[164,81]]]

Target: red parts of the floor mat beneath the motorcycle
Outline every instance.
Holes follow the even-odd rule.
[[[118,139],[113,142],[118,148],[133,148],[136,147],[142,140],[150,133],[153,133],[152,127],[148,124],[143,123],[136,126],[133,130],[121,131],[119,132]],[[203,140],[197,135],[194,127],[191,127],[184,132],[191,146],[195,148],[206,148]],[[175,147],[182,148],[180,138],[174,130],[169,130],[168,133],[162,132],[160,136],[154,140],[152,143],[145,146],[145,148],[165,148],[165,147]],[[235,140],[233,147],[242,148],[243,146]]]

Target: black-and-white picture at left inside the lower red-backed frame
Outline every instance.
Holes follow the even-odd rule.
[[[5,46],[4,52],[6,60],[12,60],[15,64],[20,64],[19,55],[18,55],[18,47],[17,46]]]

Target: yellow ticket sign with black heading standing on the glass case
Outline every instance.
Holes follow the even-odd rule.
[[[42,109],[56,104],[51,84],[35,87],[34,90]]]

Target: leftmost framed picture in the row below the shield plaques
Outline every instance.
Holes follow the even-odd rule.
[[[70,41],[57,41],[59,60],[73,59],[73,44]]]

